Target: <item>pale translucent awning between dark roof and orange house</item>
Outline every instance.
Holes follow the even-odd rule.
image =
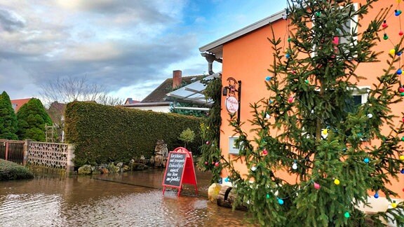
[[[203,80],[208,81],[217,77],[220,77],[220,73],[206,76],[205,78],[203,78]],[[196,81],[182,88],[178,88],[177,90],[169,92],[166,95],[168,100],[211,106],[213,104],[213,101],[211,99],[206,100],[204,95],[205,88],[206,85],[201,83],[201,81]]]

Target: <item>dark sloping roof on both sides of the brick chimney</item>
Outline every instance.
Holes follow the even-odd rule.
[[[182,76],[182,84],[189,84],[195,81],[199,81],[204,78],[205,75],[197,75],[197,76]],[[147,97],[145,97],[142,103],[156,103],[156,102],[167,102],[166,95],[168,92],[173,91],[173,78],[168,78],[166,81],[161,83],[159,87],[154,89]]]

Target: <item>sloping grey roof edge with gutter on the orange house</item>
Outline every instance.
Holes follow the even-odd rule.
[[[239,37],[248,34],[250,32],[253,32],[256,29],[259,29],[261,27],[267,26],[272,22],[275,22],[276,20],[280,20],[283,15],[286,14],[286,11],[280,11],[278,13],[275,13],[273,15],[270,15],[267,18],[264,18],[262,20],[259,20],[252,25],[248,25],[247,27],[243,27],[242,29],[239,29],[236,32],[233,32],[231,34],[228,34],[227,36],[223,36],[220,39],[217,39],[216,41],[213,41],[211,43],[206,44],[205,46],[202,46],[199,48],[199,51],[201,53],[213,53],[217,58],[223,57],[223,44],[227,43],[229,41],[232,41],[234,39],[238,39]]]

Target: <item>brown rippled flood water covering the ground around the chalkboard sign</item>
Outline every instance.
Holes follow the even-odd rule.
[[[0,181],[0,226],[247,226],[245,212],[209,202],[209,174],[196,171],[199,195],[185,186],[163,195],[163,170],[90,177]]]

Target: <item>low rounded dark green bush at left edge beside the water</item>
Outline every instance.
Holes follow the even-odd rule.
[[[34,174],[26,167],[0,159],[0,181],[32,178],[34,178]]]

